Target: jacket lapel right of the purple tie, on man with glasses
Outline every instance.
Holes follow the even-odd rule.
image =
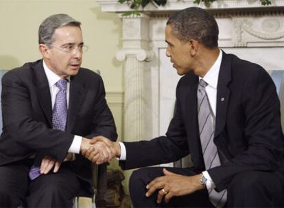
[[[79,112],[80,106],[82,106],[85,94],[86,94],[86,86],[82,81],[82,79],[80,79],[80,75],[71,77],[69,108],[68,108],[67,127],[66,127],[66,131],[69,133],[71,133],[73,129],[76,116]]]

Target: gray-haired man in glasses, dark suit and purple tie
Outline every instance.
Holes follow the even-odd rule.
[[[97,164],[99,154],[110,159],[105,144],[89,142],[117,133],[102,78],[80,67],[80,24],[67,14],[46,18],[38,31],[43,60],[2,79],[0,207],[72,207],[73,197],[93,192],[82,150],[90,148]]]

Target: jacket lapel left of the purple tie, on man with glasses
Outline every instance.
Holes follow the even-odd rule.
[[[49,84],[47,81],[47,76],[45,75],[45,70],[43,69],[43,60],[37,62],[33,67],[35,75],[35,85],[37,86],[38,101],[40,107],[43,109],[43,112],[47,118],[47,122],[50,127],[52,127],[52,106],[51,106],[51,97],[49,91]]]

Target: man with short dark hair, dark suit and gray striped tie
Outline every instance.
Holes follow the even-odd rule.
[[[135,170],[130,178],[134,207],[284,206],[276,88],[261,66],[220,51],[218,34],[206,10],[187,8],[171,15],[165,28],[167,56],[184,76],[166,136],[120,145],[100,139],[125,169],[191,154],[191,168]]]

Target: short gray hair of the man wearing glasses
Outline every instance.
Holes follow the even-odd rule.
[[[38,28],[38,44],[47,44],[50,46],[54,42],[54,31],[59,27],[74,26],[80,27],[81,23],[75,21],[67,14],[54,14],[47,17]]]

